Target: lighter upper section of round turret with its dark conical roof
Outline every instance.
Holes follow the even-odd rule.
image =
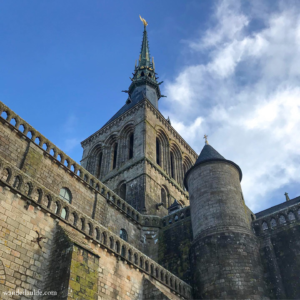
[[[190,194],[194,239],[223,230],[249,231],[240,180],[242,171],[206,144],[185,176]]]

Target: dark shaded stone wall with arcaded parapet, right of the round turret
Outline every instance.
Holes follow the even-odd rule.
[[[257,216],[252,225],[261,240],[264,278],[270,298],[299,299],[299,199],[279,204]]]

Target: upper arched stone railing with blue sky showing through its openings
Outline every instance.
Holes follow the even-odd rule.
[[[2,122],[5,122],[12,130],[15,130],[18,134],[22,135],[24,139],[28,139],[35,143],[36,146],[43,150],[46,157],[54,160],[72,177],[94,190],[95,193],[100,193],[110,204],[112,204],[113,207],[126,214],[130,220],[135,223],[142,224],[143,216],[136,209],[111,191],[98,178],[77,164],[67,154],[57,148],[53,143],[51,143],[47,138],[45,138],[41,133],[35,130],[2,102],[0,102],[0,116],[0,120]]]

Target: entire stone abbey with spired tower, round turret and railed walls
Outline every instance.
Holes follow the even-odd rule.
[[[0,299],[299,299],[300,197],[254,214],[241,168],[178,134],[143,23],[80,165],[0,102]]]

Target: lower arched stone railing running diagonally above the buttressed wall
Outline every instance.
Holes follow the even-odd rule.
[[[24,199],[25,208],[32,205],[41,209],[44,213],[83,233],[88,240],[97,243],[119,259],[152,276],[170,288],[173,293],[187,299],[191,297],[191,286],[187,283],[2,158],[0,158],[0,178],[0,183],[6,190],[11,190]],[[18,178],[17,185],[15,185],[16,178]]]

